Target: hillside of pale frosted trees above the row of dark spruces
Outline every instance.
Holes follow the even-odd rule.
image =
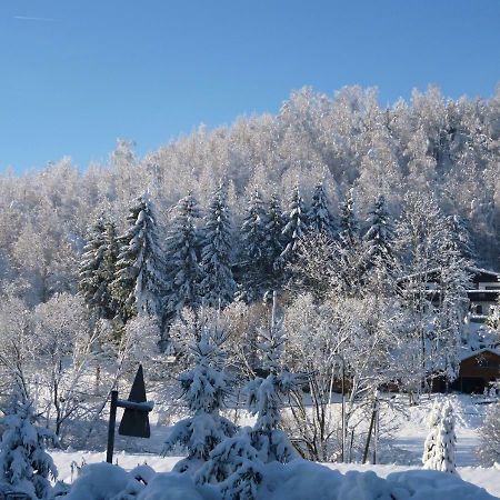
[[[240,118],[213,131],[200,127],[144,158],[119,141],[109,164],[77,169],[62,159],[21,177],[4,172],[2,290],[30,306],[74,291],[87,228],[101,212],[121,230],[130,201],[149,189],[163,230],[173,203],[192,191],[204,207],[221,180],[230,184],[236,226],[256,186],[262,196],[276,191],[286,201],[299,183],[309,203],[323,180],[333,212],[353,186],[361,220],[379,194],[397,218],[404,193],[426,192],[470,228],[478,263],[498,269],[499,137],[498,92],[489,100],[452,101],[430,88],[414,92],[411,103],[383,108],[371,89],[344,88],[333,97],[302,89],[278,116]]]

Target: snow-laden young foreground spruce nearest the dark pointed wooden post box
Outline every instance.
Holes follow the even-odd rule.
[[[189,346],[194,366],[181,373],[178,380],[191,417],[177,422],[164,443],[164,452],[178,443],[188,450],[188,457],[176,464],[177,472],[194,473],[217,444],[237,430],[219,413],[230,390],[222,351],[226,339],[223,330],[218,327],[210,329],[206,324],[201,338]]]

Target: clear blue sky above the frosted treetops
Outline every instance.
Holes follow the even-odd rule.
[[[140,154],[292,89],[490,97],[500,0],[0,0],[0,171]]]

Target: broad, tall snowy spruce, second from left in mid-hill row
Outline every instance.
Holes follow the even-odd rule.
[[[129,229],[119,238],[113,297],[123,321],[137,314],[161,319],[167,291],[166,267],[154,209],[142,194],[130,209]]]

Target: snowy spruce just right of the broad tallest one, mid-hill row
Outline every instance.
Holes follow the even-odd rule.
[[[192,193],[177,204],[176,216],[167,236],[166,262],[170,290],[167,317],[173,320],[188,307],[201,306],[201,232],[200,209]]]

